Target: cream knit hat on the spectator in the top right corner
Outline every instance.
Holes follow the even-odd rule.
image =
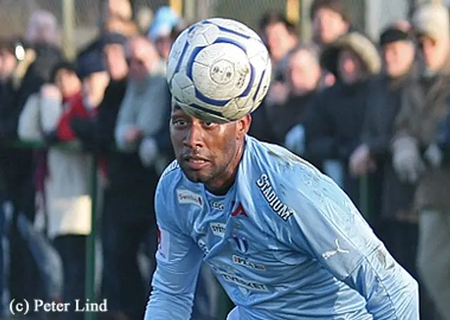
[[[418,35],[434,40],[450,37],[449,11],[445,6],[425,4],[413,15],[413,27]]]

